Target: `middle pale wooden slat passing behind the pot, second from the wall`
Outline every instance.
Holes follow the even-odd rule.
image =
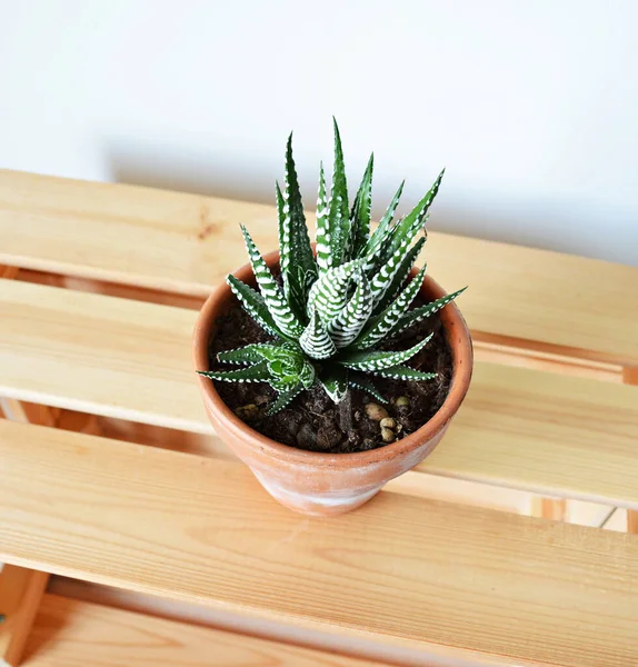
[[[0,281],[0,395],[212,434],[193,381],[196,313]],[[425,470],[638,507],[638,388],[477,364]]]

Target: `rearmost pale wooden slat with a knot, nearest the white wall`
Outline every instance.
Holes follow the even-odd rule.
[[[246,262],[240,222],[263,250],[276,247],[270,206],[0,176],[0,262],[8,265],[206,296]],[[437,232],[428,260],[446,288],[470,286],[460,306],[479,334],[638,364],[637,268]]]

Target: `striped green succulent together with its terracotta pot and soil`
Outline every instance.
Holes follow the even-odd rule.
[[[470,382],[471,340],[426,269],[413,268],[442,172],[393,219],[402,185],[371,229],[373,158],[352,207],[339,129],[330,197],[319,175],[316,246],[292,159],[277,185],[279,252],[250,263],[205,303],[195,364],[218,435],[283,505],[349,511],[437,446]],[[258,288],[258,289],[256,289]]]

